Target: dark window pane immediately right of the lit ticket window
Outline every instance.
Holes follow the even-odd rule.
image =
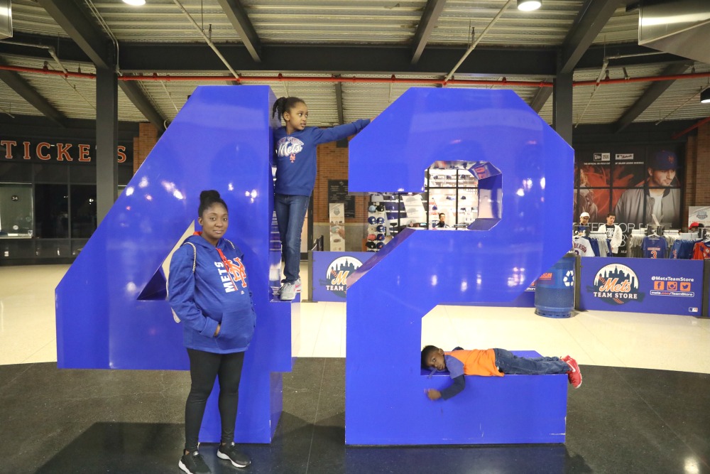
[[[35,185],[35,232],[43,239],[69,237],[69,189],[62,184]]]

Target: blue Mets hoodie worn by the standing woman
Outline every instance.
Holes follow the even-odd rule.
[[[214,247],[200,235],[187,237],[173,254],[168,300],[182,322],[186,348],[218,354],[249,348],[256,314],[243,257],[229,240],[219,239]]]

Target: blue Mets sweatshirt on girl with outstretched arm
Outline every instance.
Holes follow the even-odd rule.
[[[319,129],[307,126],[287,135],[284,126],[273,132],[276,152],[275,193],[310,196],[315,186],[316,147],[329,141],[346,139],[365,128],[369,119],[361,119]]]

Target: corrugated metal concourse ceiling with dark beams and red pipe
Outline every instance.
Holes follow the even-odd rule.
[[[269,85],[305,99],[319,126],[373,117],[409,87],[507,88],[551,123],[552,82],[569,75],[574,125],[708,117],[699,96],[710,65],[638,45],[639,10],[630,0],[542,0],[530,12],[515,0],[13,0],[1,121],[95,119],[97,70],[119,73],[120,121],[160,128],[204,84]]]

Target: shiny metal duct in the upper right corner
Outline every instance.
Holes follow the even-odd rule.
[[[642,1],[638,44],[710,63],[710,1]]]

